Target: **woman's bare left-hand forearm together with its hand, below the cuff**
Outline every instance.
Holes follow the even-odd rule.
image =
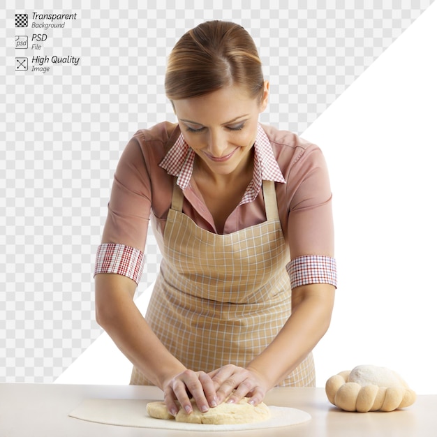
[[[119,274],[97,274],[96,320],[117,347],[151,383],[165,393],[168,410],[175,414],[178,399],[189,413],[192,410],[186,390],[196,403],[208,409],[215,405],[216,393],[205,372],[186,369],[163,346],[133,302],[137,284]]]

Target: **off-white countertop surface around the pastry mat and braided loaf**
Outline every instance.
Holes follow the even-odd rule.
[[[123,385],[58,385],[0,383],[1,437],[159,437],[190,436],[193,431],[116,427],[85,422],[68,413],[84,399],[163,399],[157,387]],[[277,388],[265,402],[298,408],[311,414],[311,421],[292,427],[235,431],[239,437],[424,437],[437,433],[437,395],[421,395],[404,410],[391,413],[347,413],[329,403],[322,388]],[[194,432],[194,434],[197,434]],[[232,432],[214,432],[214,437]]]

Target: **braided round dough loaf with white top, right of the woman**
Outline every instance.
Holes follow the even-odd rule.
[[[416,394],[396,372],[357,366],[331,376],[325,391],[330,403],[346,411],[392,411],[412,405]]]

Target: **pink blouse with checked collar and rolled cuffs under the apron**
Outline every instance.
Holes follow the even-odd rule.
[[[323,154],[288,131],[258,124],[253,179],[225,221],[223,233],[266,220],[262,179],[276,184],[279,218],[290,246],[284,266],[291,287],[309,283],[336,286],[332,193]],[[216,232],[214,219],[191,177],[195,152],[176,124],[163,122],[133,135],[121,155],[98,246],[94,274],[123,274],[140,281],[149,219],[163,232],[172,200],[173,177],[184,192],[183,212],[198,226]]]

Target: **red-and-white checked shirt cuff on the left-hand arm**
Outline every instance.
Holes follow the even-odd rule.
[[[117,273],[140,282],[145,256],[142,251],[124,244],[105,243],[98,246],[94,276],[98,273]]]

